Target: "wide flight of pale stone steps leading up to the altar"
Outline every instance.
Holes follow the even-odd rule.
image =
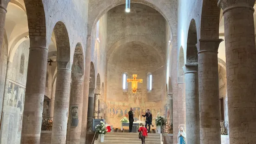
[[[161,144],[160,135],[149,133],[148,138],[145,138],[146,144]],[[141,144],[138,138],[138,133],[128,132],[108,132],[105,135],[104,143],[98,144]]]

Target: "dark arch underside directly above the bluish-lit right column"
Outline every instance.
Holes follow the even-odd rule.
[[[196,21],[192,19],[190,21],[188,40],[187,40],[187,52],[186,52],[186,64],[197,64],[197,26]]]

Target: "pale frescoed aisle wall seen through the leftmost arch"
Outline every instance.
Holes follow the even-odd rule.
[[[1,143],[19,144],[24,107],[29,40],[20,44],[13,62],[7,65],[7,79],[1,122]]]

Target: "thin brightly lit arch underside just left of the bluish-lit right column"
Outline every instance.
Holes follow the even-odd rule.
[[[183,66],[185,65],[185,63],[184,63],[184,50],[182,46],[180,47],[178,58],[179,58],[178,59],[178,82],[184,82]]]

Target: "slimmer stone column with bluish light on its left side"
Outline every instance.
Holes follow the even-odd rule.
[[[186,83],[186,143],[200,144],[199,96],[197,64],[184,66]]]

